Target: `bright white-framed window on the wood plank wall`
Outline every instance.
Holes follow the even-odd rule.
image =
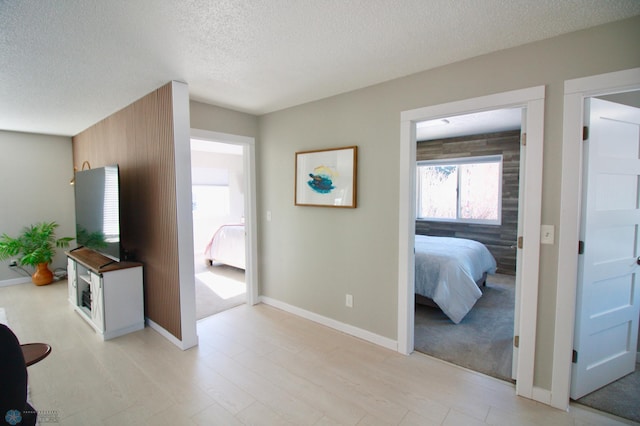
[[[502,156],[419,161],[417,218],[500,225]]]

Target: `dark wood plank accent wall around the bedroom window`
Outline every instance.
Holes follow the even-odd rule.
[[[416,234],[468,238],[485,244],[498,263],[497,272],[515,275],[518,238],[518,191],[520,176],[520,130],[422,141],[416,159],[437,160],[484,155],[503,156],[502,225],[416,221]]]

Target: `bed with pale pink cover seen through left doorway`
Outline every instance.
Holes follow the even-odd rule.
[[[205,259],[209,264],[218,262],[245,269],[244,246],[244,225],[222,225],[209,240],[204,250]]]

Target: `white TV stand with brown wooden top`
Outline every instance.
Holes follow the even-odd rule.
[[[144,328],[141,263],[84,247],[66,254],[69,303],[104,340]]]

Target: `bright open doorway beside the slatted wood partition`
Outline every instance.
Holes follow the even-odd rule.
[[[201,320],[251,300],[247,260],[252,247],[247,244],[251,239],[246,222],[253,201],[252,191],[247,190],[249,147],[234,143],[231,135],[193,133],[196,320]]]

